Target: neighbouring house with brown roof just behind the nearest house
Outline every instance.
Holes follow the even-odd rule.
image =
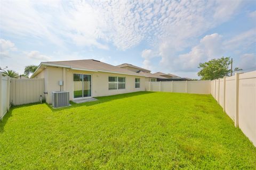
[[[135,66],[135,65],[132,65],[132,64],[124,63],[124,64],[121,64],[121,65],[117,65],[117,67],[120,67],[120,68],[125,69],[125,70],[130,70],[132,72],[139,73],[140,75],[145,76],[145,81],[146,82],[148,82],[148,81],[157,81],[157,79],[166,79],[165,77],[150,73],[151,72],[150,70],[143,69],[141,67],[138,67],[138,66]]]

